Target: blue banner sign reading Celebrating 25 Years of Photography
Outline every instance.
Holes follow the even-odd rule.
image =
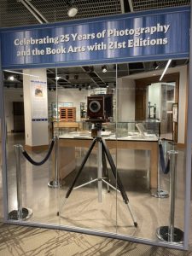
[[[1,30],[3,68],[189,57],[189,8]]]

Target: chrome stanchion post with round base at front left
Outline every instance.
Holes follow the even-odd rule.
[[[20,149],[21,145],[15,147],[16,158],[16,186],[17,186],[17,210],[9,212],[9,218],[15,220],[26,220],[32,216],[32,209],[22,207],[22,189],[21,189],[21,169],[20,169]]]

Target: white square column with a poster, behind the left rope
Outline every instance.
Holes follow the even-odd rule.
[[[41,148],[49,144],[47,73],[46,69],[23,73],[26,147]]]

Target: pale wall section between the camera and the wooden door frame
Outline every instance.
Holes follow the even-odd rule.
[[[135,120],[135,81],[120,78],[117,80],[117,84],[117,119],[119,122]]]

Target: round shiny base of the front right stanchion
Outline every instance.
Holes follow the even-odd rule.
[[[168,241],[174,243],[183,243],[183,231],[177,228],[174,228],[173,241],[169,234],[169,226],[161,226],[156,230],[156,235],[161,241]]]

